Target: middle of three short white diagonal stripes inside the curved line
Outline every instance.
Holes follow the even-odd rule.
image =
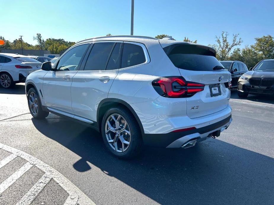
[[[25,163],[23,167],[13,173],[9,178],[4,180],[0,184],[0,194],[3,193],[7,188],[9,188],[17,179],[19,179],[23,174],[25,174],[33,165],[30,162]]]

